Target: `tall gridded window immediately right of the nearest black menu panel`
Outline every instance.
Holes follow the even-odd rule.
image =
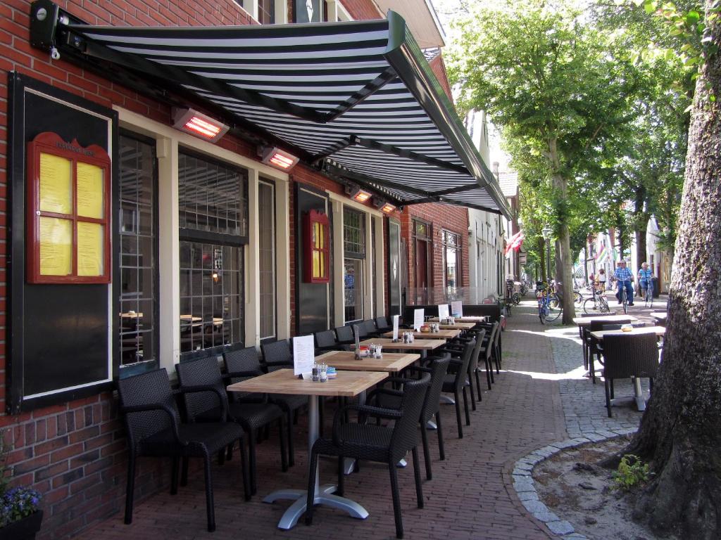
[[[120,135],[121,367],[154,367],[158,359],[155,163],[154,141]]]

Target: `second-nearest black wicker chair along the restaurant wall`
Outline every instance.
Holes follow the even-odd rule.
[[[255,348],[253,352],[255,353]],[[243,351],[233,351],[229,354],[242,355]],[[280,436],[280,466],[283,472],[288,470],[286,415],[283,410],[278,405],[267,402],[267,397],[262,397],[260,402],[243,402],[241,400],[229,402],[226,394],[225,383],[229,382],[228,379],[231,377],[257,377],[261,374],[259,370],[241,370],[229,373],[224,382],[216,356],[208,356],[192,362],[181,362],[175,366],[175,370],[178,374],[181,390],[200,386],[216,389],[214,392],[195,392],[185,395],[185,410],[188,420],[191,422],[216,422],[221,411],[227,410],[229,420],[239,423],[243,428],[248,438],[248,465],[250,469],[250,492],[252,495],[257,492],[255,445],[258,432],[261,428],[275,421],[278,422]],[[250,396],[246,399],[255,400],[257,398]]]

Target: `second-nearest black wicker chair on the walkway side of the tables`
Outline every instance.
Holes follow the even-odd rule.
[[[438,433],[438,454],[441,461],[446,459],[446,450],[443,446],[443,426],[441,425],[441,390],[443,390],[443,379],[448,372],[448,364],[451,363],[451,356],[446,354],[441,358],[431,359],[428,367],[411,366],[410,370],[416,372],[430,373],[430,384],[428,392],[425,394],[423,401],[423,410],[420,413],[420,438],[423,441],[423,458],[425,460],[425,477],[428,480],[433,479],[433,471],[430,467],[430,452],[428,451],[428,433],[427,424],[435,416],[435,432]],[[396,382],[403,384],[409,379],[399,379],[397,377],[389,377],[383,382]],[[382,384],[382,383],[381,383]],[[368,393],[366,405],[386,409],[399,409],[401,406],[403,392],[400,390],[392,390],[389,388],[376,388]]]

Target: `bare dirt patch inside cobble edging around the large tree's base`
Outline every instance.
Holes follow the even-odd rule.
[[[613,489],[611,469],[598,466],[622,451],[629,438],[613,438],[559,451],[534,467],[539,499],[577,533],[598,540],[681,540],[658,536],[632,519],[637,492]]]

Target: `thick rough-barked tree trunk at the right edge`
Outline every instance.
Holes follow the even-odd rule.
[[[717,0],[706,0],[707,14]],[[721,45],[718,19],[713,42]],[[709,100],[710,89],[716,101]],[[721,538],[721,55],[696,84],[663,362],[629,451],[655,476],[636,508],[658,531]]]

